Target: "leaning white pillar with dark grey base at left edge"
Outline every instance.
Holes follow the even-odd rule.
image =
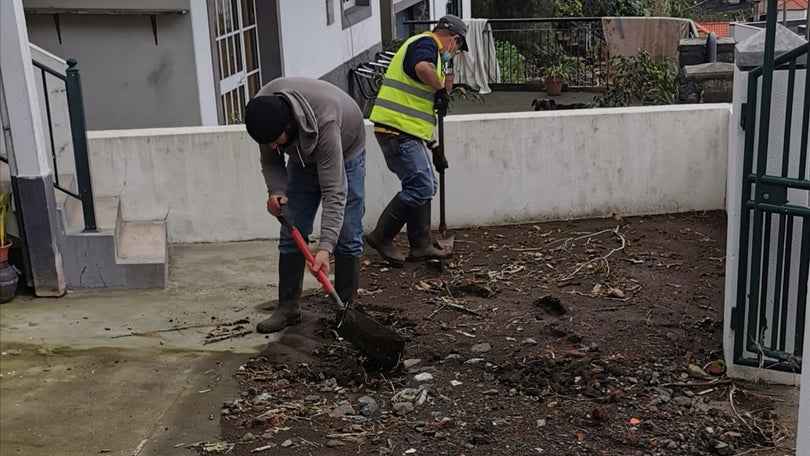
[[[0,0],[0,118],[24,266],[37,296],[65,293],[59,224],[22,0]]]

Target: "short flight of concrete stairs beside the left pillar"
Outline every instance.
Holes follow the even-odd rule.
[[[73,176],[60,176],[59,182],[75,188]],[[94,203],[98,231],[86,233],[81,201],[56,192],[62,264],[68,288],[165,287],[168,271],[165,220],[123,220],[117,196],[96,197]]]

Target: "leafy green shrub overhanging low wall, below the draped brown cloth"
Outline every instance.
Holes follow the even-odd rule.
[[[594,99],[594,106],[672,104],[678,87],[677,76],[672,59],[651,57],[644,50],[632,57],[612,57],[607,73],[608,88]]]

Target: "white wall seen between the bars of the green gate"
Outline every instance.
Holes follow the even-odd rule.
[[[804,93],[803,87],[805,86],[805,78],[807,77],[806,70],[796,72],[796,82],[793,104],[793,124],[791,127],[791,151],[789,162],[789,176],[796,177],[799,169],[799,148],[801,144],[801,130],[802,130],[802,110],[804,109]],[[739,239],[740,239],[740,214],[742,210],[742,173],[743,173],[743,155],[745,149],[745,131],[740,127],[740,119],[742,115],[741,105],[747,101],[748,90],[748,73],[740,71],[735,68],[734,70],[734,100],[732,115],[729,123],[729,156],[728,156],[728,188],[727,194],[729,196],[728,203],[728,234],[726,244],[726,286],[725,286],[725,316],[724,321],[731,321],[731,309],[736,306],[737,300],[737,267],[739,264]],[[761,79],[760,89],[761,91]],[[786,122],[786,102],[787,102],[787,71],[777,71],[774,73],[773,97],[771,103],[771,119],[768,135],[768,162],[766,172],[772,175],[781,175],[782,167],[782,148],[784,145],[784,131]],[[761,104],[761,98],[757,98],[757,103]],[[806,120],[805,120],[806,121]],[[757,119],[757,125],[760,120]],[[758,142],[758,137],[755,139],[755,144]],[[807,165],[805,176],[810,175],[810,164]],[[789,191],[788,200],[791,204],[799,206],[810,205],[810,197],[807,192]],[[775,251],[777,242],[777,223],[774,221],[772,226],[772,238],[770,239],[771,251]],[[800,251],[801,241],[801,223],[794,224],[793,231],[793,245],[792,251]],[[792,257],[791,277],[790,283],[798,283],[798,254]],[[774,255],[770,258],[768,270],[774,271],[776,267],[776,259]],[[769,290],[768,296],[773,296],[773,283],[774,279],[771,277],[768,281]],[[788,296],[790,302],[795,303],[796,289],[793,288],[792,294]],[[772,315],[772,299],[767,303],[767,314]],[[788,311],[788,325],[786,330],[788,334],[792,334],[795,330],[795,316],[796,309],[789,309]],[[773,325],[770,325],[773,326]],[[765,333],[767,340],[770,340],[771,328]],[[810,333],[807,333],[810,334]],[[791,345],[792,340],[787,338],[786,350],[792,352],[794,347]],[[766,369],[756,369],[745,366],[737,366],[732,364],[734,356],[734,333],[731,328],[726,325],[724,327],[724,351],[725,358],[729,364],[728,375],[733,377],[746,378],[749,380],[761,379],[774,383],[794,384],[797,381],[797,376],[776,372]]]

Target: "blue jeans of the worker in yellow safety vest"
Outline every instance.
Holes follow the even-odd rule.
[[[407,135],[375,133],[385,164],[402,184],[399,198],[410,207],[429,202],[439,188],[427,145]]]

